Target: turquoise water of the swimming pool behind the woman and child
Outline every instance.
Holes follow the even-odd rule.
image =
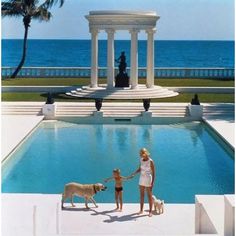
[[[154,194],[193,203],[195,194],[234,193],[234,159],[200,122],[168,125],[81,125],[43,122],[4,163],[2,192],[61,193],[64,184],[103,182],[120,168],[127,176],[146,147],[156,165]],[[124,202],[139,202],[138,179],[124,183]],[[114,182],[96,195],[114,202]],[[83,200],[79,200],[83,201]]]

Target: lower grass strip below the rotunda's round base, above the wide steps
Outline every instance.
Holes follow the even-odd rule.
[[[156,98],[152,99],[152,102],[190,102],[193,98],[193,93],[181,93],[172,98]],[[224,102],[234,103],[234,94],[198,94],[200,102]],[[46,93],[2,93],[2,101],[46,101]],[[94,102],[93,99],[76,99],[68,97],[65,94],[54,94],[54,100],[56,102]],[[114,100],[106,100],[111,102]],[[115,100],[117,102],[129,101],[129,102],[141,102],[142,100]]]

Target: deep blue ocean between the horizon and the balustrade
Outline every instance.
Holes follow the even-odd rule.
[[[2,39],[2,66],[15,67],[23,40]],[[98,64],[106,67],[107,41],[98,42]],[[146,40],[138,42],[139,67],[146,66]],[[115,58],[125,51],[130,65],[130,40],[115,40]],[[89,67],[90,40],[28,40],[24,66]],[[116,65],[117,66],[117,65]],[[234,41],[155,41],[155,67],[234,67]]]

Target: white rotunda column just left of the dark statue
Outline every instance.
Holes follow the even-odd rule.
[[[107,87],[114,86],[114,29],[107,29]]]

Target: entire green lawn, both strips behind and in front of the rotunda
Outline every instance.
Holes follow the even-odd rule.
[[[99,84],[106,83],[106,79],[99,78]],[[3,86],[81,86],[88,85],[89,78],[17,78],[3,79]],[[145,84],[146,79],[140,78],[140,84]],[[234,87],[234,80],[220,79],[156,79],[156,85],[166,87]],[[94,101],[93,99],[75,99],[65,94],[54,94],[55,101],[75,102]],[[173,98],[152,99],[153,102],[190,102],[192,93],[181,93]],[[234,103],[234,94],[199,94],[201,102],[230,102]],[[46,93],[2,93],[2,101],[45,101]],[[109,100],[106,100],[109,102]],[[110,100],[112,101],[112,100]],[[116,100],[127,101],[127,100]],[[129,100],[130,101],[130,100]],[[133,101],[133,100],[132,100]],[[135,100],[141,101],[141,100]]]

